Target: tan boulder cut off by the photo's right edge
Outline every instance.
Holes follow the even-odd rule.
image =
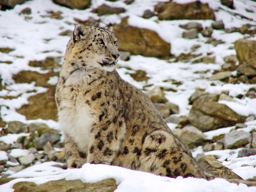
[[[234,42],[234,49],[240,63],[238,72],[246,76],[256,76],[256,41],[238,39]]]

